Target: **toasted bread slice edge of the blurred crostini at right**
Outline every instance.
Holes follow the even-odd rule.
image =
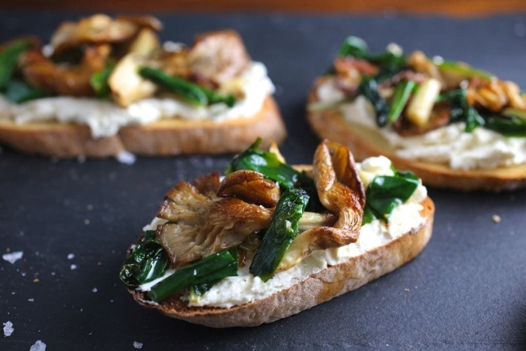
[[[318,100],[317,79],[309,93],[308,103]],[[453,169],[448,165],[412,161],[391,151],[386,139],[376,130],[346,121],[336,109],[308,112],[307,120],[320,138],[346,145],[355,159],[362,161],[371,156],[384,155],[398,169],[410,169],[423,184],[463,191],[487,190],[499,192],[526,187],[526,164],[494,169]]]

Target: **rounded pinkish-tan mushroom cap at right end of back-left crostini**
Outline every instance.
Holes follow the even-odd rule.
[[[250,63],[250,57],[239,34],[232,30],[197,36],[188,53],[188,66],[198,81],[221,85],[235,77]]]

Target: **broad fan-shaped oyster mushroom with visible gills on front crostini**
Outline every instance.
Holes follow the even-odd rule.
[[[274,215],[274,207],[216,197],[217,184],[217,172],[197,178],[194,185],[180,182],[169,190],[159,207],[157,216],[170,222],[158,226],[157,239],[177,267],[247,243],[247,238],[268,227]],[[306,212],[299,227],[305,230],[331,225],[335,219],[332,214]]]

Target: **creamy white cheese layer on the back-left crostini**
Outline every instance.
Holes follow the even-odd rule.
[[[252,62],[242,72],[240,79],[245,97],[238,99],[233,107],[224,103],[194,106],[172,96],[146,98],[126,108],[97,98],[68,96],[14,104],[0,95],[0,118],[12,119],[17,124],[56,121],[88,125],[94,138],[113,136],[124,126],[144,125],[161,118],[212,119],[221,122],[255,115],[265,98],[274,93],[267,68],[260,62]]]

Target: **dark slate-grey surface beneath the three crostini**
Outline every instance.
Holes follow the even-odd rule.
[[[47,38],[63,18],[3,12],[0,39],[31,32]],[[282,15],[161,19],[164,39],[190,42],[196,32],[221,27],[241,32],[252,57],[267,64],[276,83],[290,133],[282,152],[292,163],[311,159],[317,141],[304,123],[306,92],[347,34],[362,36],[374,49],[397,41],[407,51],[420,48],[463,59],[526,86],[523,15],[468,21]],[[228,159],[80,164],[4,148],[0,251],[23,250],[24,258],[14,265],[0,260],[0,322],[11,320],[15,328],[12,336],[0,337],[0,349],[27,350],[37,339],[49,350],[133,349],[135,340],[143,349],[518,348],[526,343],[524,191],[431,189],[436,224],[418,258],[355,292],[270,325],[209,329],[139,307],[117,278],[126,247],[154,216],[170,185],[222,169]],[[502,222],[493,223],[493,214]],[[75,258],[68,260],[69,253]]]

